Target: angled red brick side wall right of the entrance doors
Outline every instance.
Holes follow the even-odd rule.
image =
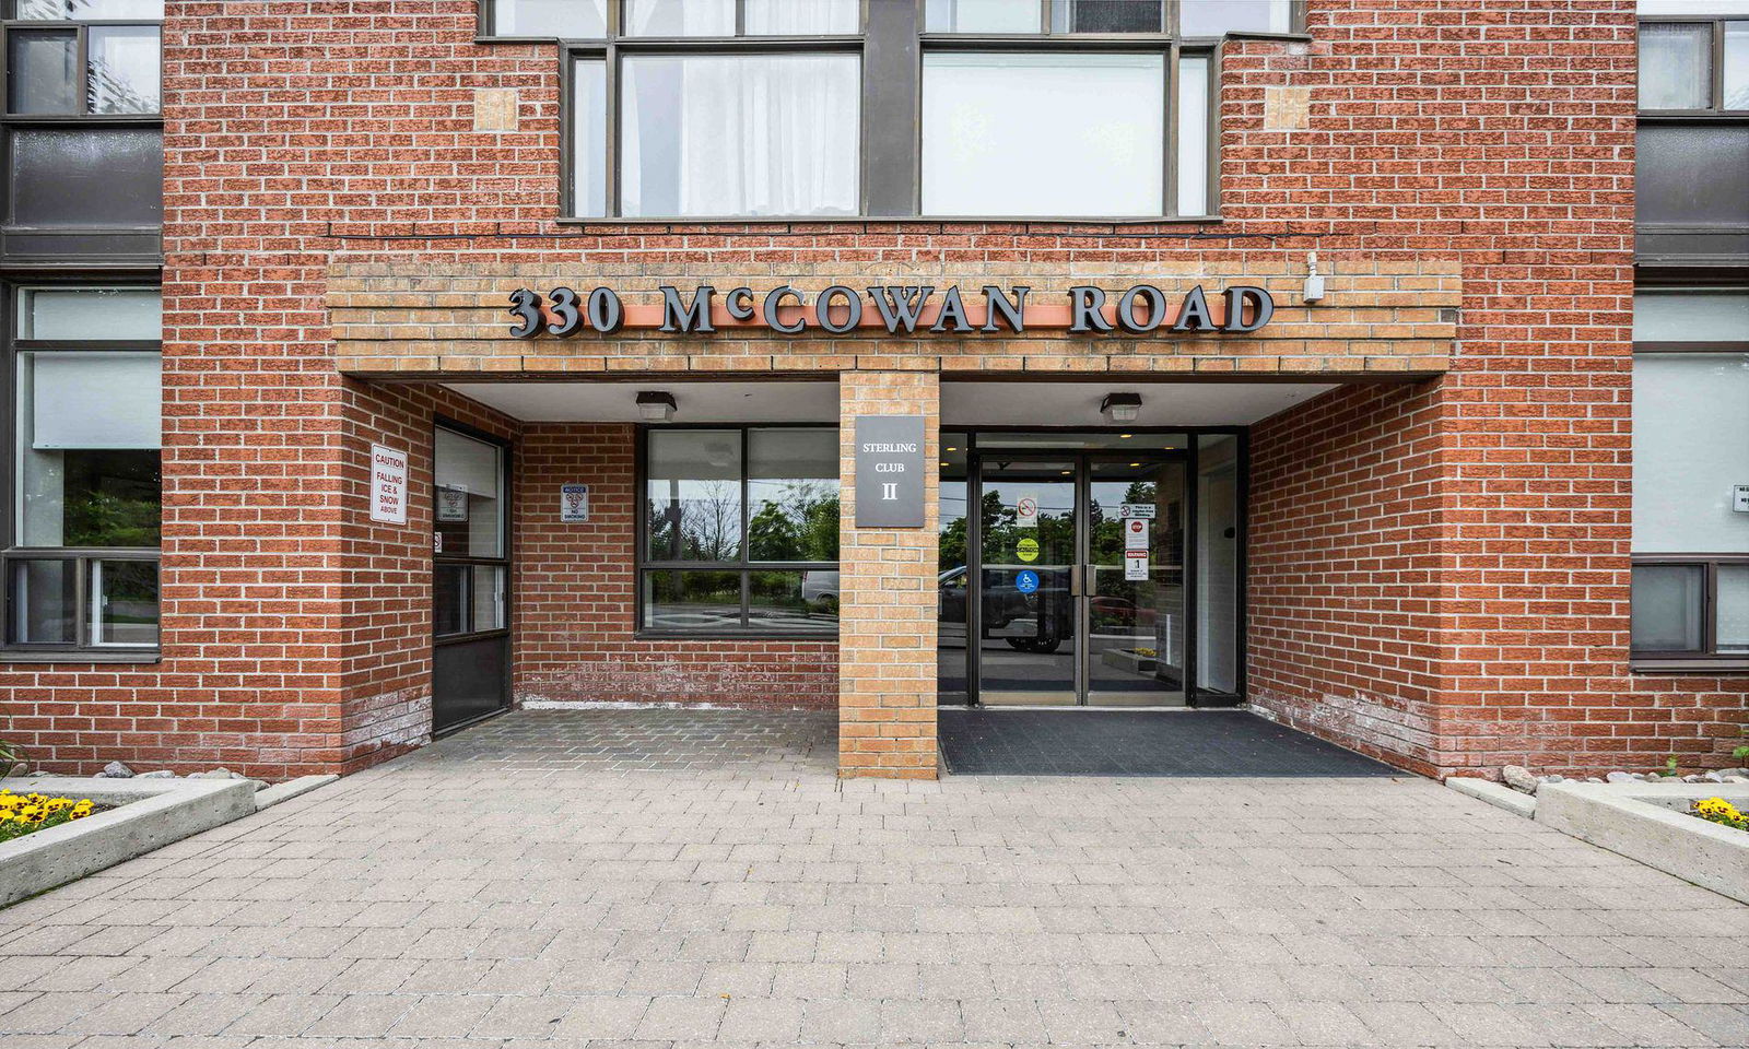
[[[1438,381],[1348,386],[1252,430],[1251,703],[1439,768]]]

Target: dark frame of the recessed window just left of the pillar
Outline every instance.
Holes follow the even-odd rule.
[[[742,444],[742,538],[736,545],[735,561],[668,561],[649,556],[649,437],[652,432],[684,430],[729,430],[740,435]],[[840,572],[838,561],[754,561],[749,524],[752,519],[752,432],[754,430],[831,430],[836,460],[840,427],[831,423],[640,423],[635,432],[635,469],[633,469],[633,524],[631,524],[631,636],[635,640],[778,640],[778,642],[838,642],[838,624],[831,631],[756,628],[750,622],[750,586],[756,572]],[[843,500],[843,476],[840,474],[838,498]],[[843,507],[843,502],[840,502]],[[647,572],[733,572],[742,580],[742,628],[740,629],[665,629],[644,624],[644,575]]]

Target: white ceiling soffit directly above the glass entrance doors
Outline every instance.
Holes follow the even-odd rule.
[[[1107,393],[1142,395],[1133,427],[1245,427],[1305,404],[1331,383],[943,383],[944,427],[1104,427]]]

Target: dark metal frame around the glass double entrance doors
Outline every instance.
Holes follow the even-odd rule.
[[[1088,462],[1093,458],[1123,458],[1123,456],[1151,456],[1154,460],[1179,460],[1184,463],[1184,706],[1240,706],[1245,703],[1247,696],[1247,642],[1249,631],[1245,624],[1249,622],[1251,607],[1247,584],[1251,580],[1251,432],[1245,427],[1123,427],[1125,434],[1184,434],[1186,446],[1182,449],[1137,449],[1125,451],[1121,448],[1111,449],[1051,449],[1048,446],[1041,448],[1016,448],[1016,449],[986,449],[981,448],[978,437],[981,434],[1037,434],[1046,435],[1051,432],[1062,434],[1088,434],[1093,430],[1109,430],[1112,434],[1119,432],[1114,427],[943,427],[943,430],[965,434],[965,575],[969,589],[965,596],[965,706],[983,706],[981,698],[981,649],[983,649],[983,460],[986,456],[1002,456],[1007,460],[1055,460],[1055,462],[1074,462],[1076,463],[1076,572],[1086,572],[1088,563],[1088,504],[1090,504],[1090,470]],[[1198,521],[1198,488],[1200,488],[1200,465],[1202,465],[1202,448],[1200,439],[1205,435],[1233,437],[1237,442],[1237,484],[1235,498],[1238,502],[1235,514],[1235,573],[1237,587],[1233,594],[1233,608],[1237,617],[1237,636],[1233,638],[1233,692],[1212,692],[1198,684],[1198,614],[1200,614],[1200,589],[1198,575],[1202,570],[1202,533]],[[1086,589],[1086,580],[1081,580],[1081,587]],[[1056,706],[1053,710],[1086,710],[1088,708],[1088,684],[1086,684],[1086,661],[1088,661],[1088,643],[1086,643],[1086,626],[1088,610],[1086,598],[1076,601],[1076,703]],[[1095,708],[1098,710],[1098,708]]]

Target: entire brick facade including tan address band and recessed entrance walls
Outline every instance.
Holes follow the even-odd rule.
[[[698,659],[721,668],[689,673],[700,701],[780,691],[780,703],[831,703],[836,680],[847,726],[876,724],[869,710],[916,719],[906,734],[874,729],[916,764],[847,743],[847,766],[923,775],[930,652],[862,643],[883,601],[909,612],[915,594],[859,591],[843,636],[864,650],[841,661],[826,643],[708,656],[633,643],[630,570],[616,561],[626,505],[579,531],[546,518],[554,474],[574,465],[630,493],[624,427],[518,425],[430,381],[775,371],[841,376],[847,406],[929,411],[937,374],[1256,371],[1390,379],[1254,434],[1259,706],[1427,773],[1648,766],[1672,752],[1725,764],[1749,678],[1627,668],[1632,7],[1312,0],[1310,42],[1228,40],[1217,224],[635,226],[554,220],[554,49],[476,42],[472,0],[171,2],[163,659],[9,663],[7,731],[65,769],[122,757],[275,778],[418,745],[429,432],[442,413],[518,439],[519,696],[638,698]],[[514,91],[516,119],[497,91],[493,119],[477,121],[483,87]],[[1312,250],[1334,276],[1305,308],[1294,294]],[[682,350],[502,336],[493,308],[507,287],[588,274],[644,292],[665,276],[1049,288],[1244,274],[1277,288],[1284,315],[1256,339],[717,337]],[[902,383],[901,371],[920,374]],[[406,528],[364,518],[378,437],[413,453]],[[847,551],[885,549],[864,538],[847,535]],[[895,579],[920,579],[932,554],[915,552]],[[847,558],[845,570],[876,563]],[[582,631],[577,614],[595,612],[603,629]],[[901,650],[913,659],[883,678],[874,657]]]

